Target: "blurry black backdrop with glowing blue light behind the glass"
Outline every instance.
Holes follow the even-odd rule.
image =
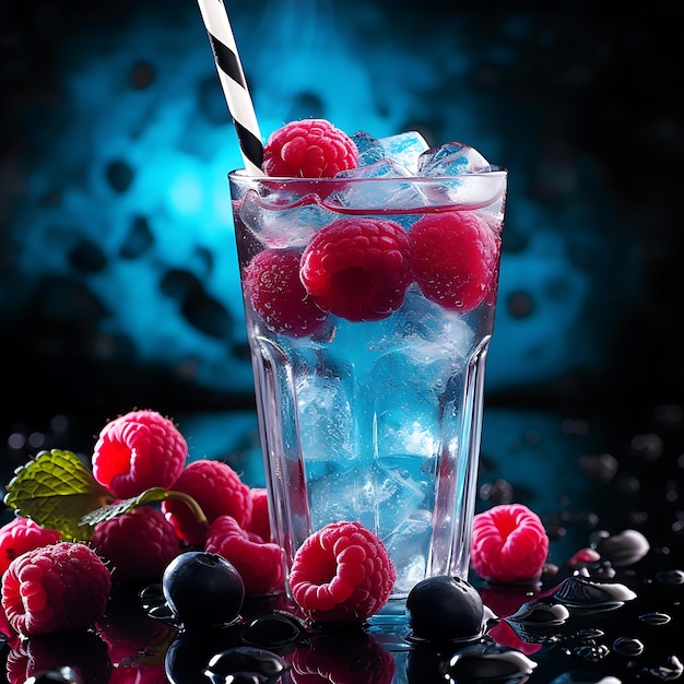
[[[647,496],[634,438],[681,428],[682,10],[597,4],[226,1],[263,137],[320,116],[509,169],[483,481],[571,506],[610,450],[671,524],[679,443]],[[3,0],[0,89],[0,458],[153,408],[259,481],[240,160],[196,3]]]

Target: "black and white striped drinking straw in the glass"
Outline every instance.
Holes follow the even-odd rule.
[[[214,52],[223,94],[237,131],[245,169],[250,176],[262,176],[261,133],[223,0],[198,0],[198,3]]]

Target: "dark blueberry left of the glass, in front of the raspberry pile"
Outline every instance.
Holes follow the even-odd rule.
[[[245,600],[239,573],[217,554],[189,551],[172,561],[162,578],[168,606],[186,626],[235,621]]]

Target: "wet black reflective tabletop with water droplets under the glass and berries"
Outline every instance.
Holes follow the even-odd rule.
[[[87,450],[92,434],[79,434],[82,421],[62,417],[71,427],[62,425],[59,434],[45,429],[45,446],[67,433],[72,441],[82,438]],[[207,428],[212,420],[222,426],[221,438]],[[234,458],[253,459],[249,412],[188,414],[182,422],[197,427],[200,449],[229,439]],[[25,436],[35,440],[45,424],[27,421]],[[403,621],[311,628],[290,616],[293,609],[282,597],[247,600],[240,620],[226,627],[182,629],[165,615],[158,587],[145,582],[117,586],[96,630],[4,645],[7,680],[21,684],[48,664],[70,664],[84,673],[84,682],[98,683],[223,684],[278,676],[307,684],[680,680],[683,425],[682,406],[669,402],[586,412],[487,408],[477,509],[528,505],[542,518],[551,547],[539,583],[496,586],[471,576],[491,611],[471,639],[417,641]],[[3,468],[22,461],[31,448],[21,446],[17,424],[12,428],[7,439],[12,437],[14,448]],[[258,465],[245,472],[260,484]],[[259,667],[271,679],[227,674],[246,667],[240,658],[251,658],[256,668],[253,649],[268,651]],[[223,660],[205,674],[216,653]]]

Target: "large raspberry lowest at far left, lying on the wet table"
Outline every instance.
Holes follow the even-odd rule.
[[[90,627],[107,606],[111,577],[85,544],[59,542],[22,554],[2,577],[2,608],[24,636]]]

